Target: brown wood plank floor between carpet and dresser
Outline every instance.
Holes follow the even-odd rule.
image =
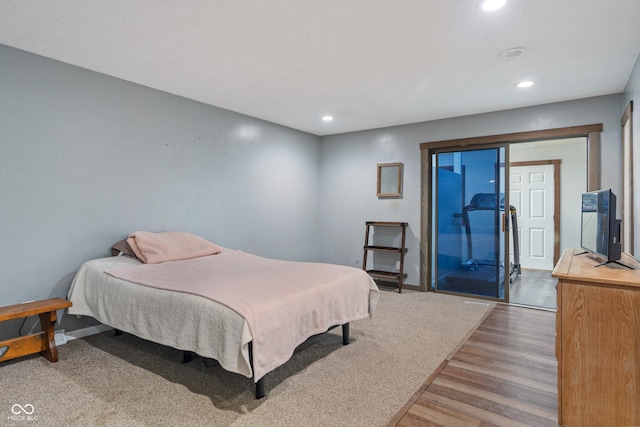
[[[498,304],[388,427],[557,426],[555,313]]]

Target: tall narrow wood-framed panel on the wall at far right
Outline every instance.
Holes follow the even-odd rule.
[[[622,251],[635,256],[633,224],[633,101],[622,115]]]

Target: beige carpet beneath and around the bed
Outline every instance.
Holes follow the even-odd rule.
[[[178,350],[105,332],[0,365],[6,426],[385,426],[493,304],[382,291],[372,319],[313,337],[253,382]],[[16,406],[19,405],[19,406]],[[16,412],[18,414],[16,414]]]

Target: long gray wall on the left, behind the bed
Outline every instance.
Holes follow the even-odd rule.
[[[66,297],[135,230],[317,258],[317,136],[1,45],[0,93],[0,305]]]

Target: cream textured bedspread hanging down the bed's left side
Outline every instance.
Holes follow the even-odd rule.
[[[251,378],[251,333],[242,316],[207,298],[104,273],[139,264],[123,256],[84,263],[69,289],[69,314],[90,316],[140,338],[216,359],[225,370]]]

